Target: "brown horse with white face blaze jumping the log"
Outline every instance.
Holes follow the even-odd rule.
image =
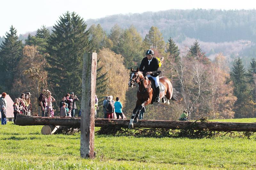
[[[136,86],[138,91],[136,107],[133,110],[129,128],[133,128],[133,123],[138,122],[140,110],[148,104],[153,104],[156,99],[156,92],[151,87],[152,82],[148,77],[144,76],[138,67],[137,70],[133,70],[131,67],[131,72],[128,86],[132,88],[138,84],[138,87]],[[159,77],[159,81],[164,85],[164,91],[160,92],[160,99],[162,99],[162,102],[169,105],[169,100],[177,101],[178,92],[172,87],[171,81],[166,77]],[[164,100],[164,96],[167,98],[167,101]]]

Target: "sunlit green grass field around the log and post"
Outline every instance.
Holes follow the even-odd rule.
[[[215,120],[216,121],[216,120]],[[220,121],[220,120],[218,120]],[[229,121],[229,120],[225,120]],[[256,122],[232,119],[232,122]],[[0,169],[255,169],[256,140],[95,135],[94,160],[80,159],[80,133],[41,135],[42,126],[0,126]]]

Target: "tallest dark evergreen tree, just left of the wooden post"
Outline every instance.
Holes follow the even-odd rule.
[[[47,47],[48,79],[59,98],[70,91],[82,94],[82,57],[90,51],[86,27],[75,12],[66,12],[53,26]]]

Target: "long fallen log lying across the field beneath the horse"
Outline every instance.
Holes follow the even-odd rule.
[[[56,125],[80,127],[80,117],[36,117],[19,115],[16,124],[28,125]],[[95,127],[102,127],[106,124],[117,124],[120,127],[128,128],[130,120],[122,119],[95,119]],[[251,131],[256,132],[256,123],[239,122],[189,122],[189,121],[165,121],[165,120],[139,120],[133,124],[134,128],[159,128],[159,129],[191,129],[210,131]]]

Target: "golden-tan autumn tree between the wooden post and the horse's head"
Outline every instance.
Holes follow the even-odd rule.
[[[100,60],[99,63],[97,63],[97,67],[102,68],[99,72],[97,72],[97,74],[99,74],[99,77],[102,75],[105,76],[107,88],[104,88],[105,91],[101,92],[100,90],[102,89],[96,89],[96,94],[101,96],[101,98],[103,96],[110,95],[113,96],[114,99],[119,97],[123,103],[123,107],[125,107],[125,94],[128,89],[127,80],[129,79],[129,73],[122,64],[124,58],[120,54],[116,54],[107,48],[100,50],[98,53],[98,58]],[[97,84],[98,83],[99,82],[97,82]],[[102,102],[100,104],[102,104]],[[101,110],[100,117],[103,117]]]

